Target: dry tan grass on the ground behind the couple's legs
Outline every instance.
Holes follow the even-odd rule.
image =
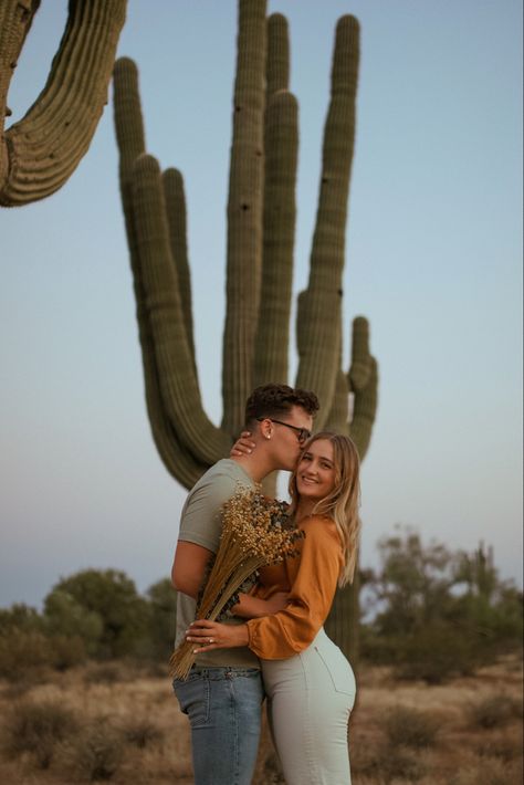
[[[386,668],[364,669],[358,682],[354,785],[521,785],[522,663],[515,659],[446,685],[396,682]],[[43,720],[34,706],[44,706]],[[17,712],[19,720],[40,718],[22,723],[36,734],[31,749],[13,742]],[[161,669],[87,666],[50,673],[23,691],[1,681],[0,737],[7,740],[0,782],[10,785],[192,783],[187,719]],[[265,729],[253,783],[283,783]]]

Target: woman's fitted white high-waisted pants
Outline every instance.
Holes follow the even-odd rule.
[[[349,785],[347,723],[355,677],[321,629],[286,660],[261,660],[273,743],[287,785]]]

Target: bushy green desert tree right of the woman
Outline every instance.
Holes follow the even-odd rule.
[[[492,550],[451,552],[412,530],[384,537],[378,550],[380,568],[366,574],[365,657],[439,682],[520,646],[522,593],[500,580]]]

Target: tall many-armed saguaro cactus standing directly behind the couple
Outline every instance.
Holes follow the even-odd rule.
[[[115,66],[120,191],[148,414],[167,469],[186,486],[228,454],[252,387],[287,378],[297,104],[289,92],[286,20],[281,14],[266,20],[265,12],[265,0],[239,2],[220,428],[206,416],[198,387],[182,177],[175,169],[161,175],[155,158],[146,155],[137,69],[128,59]],[[336,30],[310,282],[298,303],[297,384],[319,396],[316,427],[350,433],[364,458],[377,404],[377,365],[365,318],[354,322],[347,374],[340,362],[358,36],[356,19],[343,17]],[[334,618],[344,614],[337,641],[350,653],[356,638],[348,635],[344,597],[342,605],[335,603]]]

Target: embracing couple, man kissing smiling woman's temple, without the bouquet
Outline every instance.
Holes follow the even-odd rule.
[[[174,689],[191,725],[196,785],[250,785],[268,700],[272,739],[289,785],[350,783],[347,725],[355,701],[348,661],[324,632],[337,585],[353,579],[359,534],[358,454],[345,436],[311,435],[313,393],[264,385],[251,394],[231,458],[190,491],[172,565],[177,645],[197,659]],[[195,622],[196,599],[221,533],[223,504],[291,471],[291,514],[304,532],[298,554],[263,567],[228,624]]]

